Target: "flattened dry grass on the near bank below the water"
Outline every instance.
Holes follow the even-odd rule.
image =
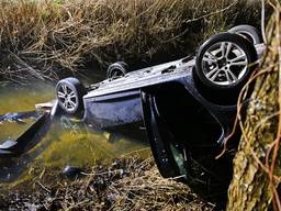
[[[91,174],[71,181],[58,169],[37,170],[37,176],[15,191],[0,195],[3,210],[191,210],[211,211],[183,184],[164,179],[153,158],[115,159],[95,165]],[[1,187],[0,187],[1,188]],[[7,191],[7,187],[2,187]]]

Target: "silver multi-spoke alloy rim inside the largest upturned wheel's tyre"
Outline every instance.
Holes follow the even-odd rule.
[[[210,46],[202,58],[205,78],[218,86],[239,84],[247,73],[248,59],[244,49],[232,42]]]

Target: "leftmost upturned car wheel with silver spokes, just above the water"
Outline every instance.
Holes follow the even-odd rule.
[[[58,104],[67,114],[81,114],[85,93],[86,88],[77,78],[65,78],[56,87]]]

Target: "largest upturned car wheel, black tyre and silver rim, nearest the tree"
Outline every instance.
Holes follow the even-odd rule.
[[[246,38],[221,33],[201,45],[194,71],[207,88],[238,91],[248,81],[257,58],[255,46]]]

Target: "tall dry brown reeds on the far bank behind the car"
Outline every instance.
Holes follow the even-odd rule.
[[[235,24],[259,25],[245,0],[2,0],[0,80],[57,79],[89,64],[134,68],[193,53]]]

